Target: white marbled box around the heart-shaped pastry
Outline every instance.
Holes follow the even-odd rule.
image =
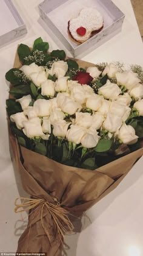
[[[96,8],[104,19],[104,27],[82,44],[73,41],[68,34],[68,21],[78,16],[84,7]],[[39,13],[47,27],[73,57],[85,55],[101,46],[122,29],[124,13],[111,0],[45,0],[39,4]]]

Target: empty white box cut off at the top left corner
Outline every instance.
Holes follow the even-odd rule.
[[[1,0],[0,24],[0,46],[27,33],[24,21],[11,0]]]

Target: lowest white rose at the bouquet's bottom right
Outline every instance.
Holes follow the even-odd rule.
[[[118,138],[124,144],[134,144],[138,141],[138,136],[135,135],[135,129],[132,126],[127,126],[125,123],[119,129]]]

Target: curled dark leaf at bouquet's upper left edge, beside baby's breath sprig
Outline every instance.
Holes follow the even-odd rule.
[[[5,74],[5,79],[7,79],[8,82],[12,83],[13,85],[17,85],[22,82],[21,78],[15,76],[15,71],[17,71],[19,74],[23,73],[18,68],[12,68],[8,70],[7,73]]]

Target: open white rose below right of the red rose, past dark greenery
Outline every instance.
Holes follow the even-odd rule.
[[[99,88],[98,93],[102,94],[105,99],[116,99],[122,91],[117,84],[113,84],[110,80],[107,80],[107,83]]]

